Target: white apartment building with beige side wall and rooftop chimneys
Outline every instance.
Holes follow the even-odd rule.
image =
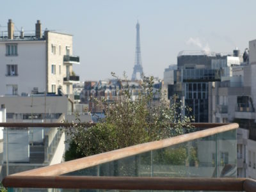
[[[72,65],[79,64],[73,56],[73,36],[42,32],[37,20],[35,32],[15,31],[12,19],[8,31],[0,36],[0,95],[26,95],[34,92],[72,93],[72,83],[79,81]]]

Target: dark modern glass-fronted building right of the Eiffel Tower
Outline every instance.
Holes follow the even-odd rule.
[[[187,115],[193,115],[195,122],[209,122],[208,83],[231,76],[231,68],[239,64],[237,56],[181,51],[177,57],[177,70],[170,70],[173,83],[168,84],[168,98],[179,95],[184,105],[192,109]]]

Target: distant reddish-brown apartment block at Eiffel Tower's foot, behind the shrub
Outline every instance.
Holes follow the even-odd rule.
[[[159,78],[154,78],[153,84],[153,104],[158,104],[161,97],[160,90],[163,87]],[[128,90],[131,100],[138,99],[143,86],[141,81],[125,81],[109,79],[107,81],[85,81],[83,91],[80,94],[81,104],[86,104],[87,111],[91,113],[102,113],[108,104],[122,100],[124,90]],[[97,102],[95,102],[97,100]],[[105,100],[105,102],[102,102]]]

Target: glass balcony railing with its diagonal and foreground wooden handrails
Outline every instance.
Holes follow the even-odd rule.
[[[0,127],[8,125],[10,124],[0,124]],[[49,124],[45,125],[49,126]],[[56,125],[52,124],[51,127]],[[255,191],[256,182],[252,179],[209,178],[209,174],[210,177],[221,175],[221,177],[236,177],[236,129],[239,125],[193,125],[196,127],[195,132],[189,134],[16,173],[4,178],[3,184],[13,191],[17,191],[18,188],[19,191],[25,191],[25,188],[56,188],[56,191],[62,189]],[[17,127],[17,124],[12,126]],[[29,127],[31,126],[33,127],[29,124]],[[44,127],[44,124],[40,126]],[[220,156],[216,154],[212,159],[212,151],[220,152],[225,149],[230,150],[227,164],[221,164]],[[173,152],[174,156],[170,156]],[[163,156],[169,158],[163,159]],[[179,158],[172,159],[173,157]],[[214,166],[210,161],[215,161]]]

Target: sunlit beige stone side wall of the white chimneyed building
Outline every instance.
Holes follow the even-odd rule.
[[[48,31],[47,35],[47,81],[48,92],[52,92],[52,84],[56,86],[56,93],[58,91],[58,86],[62,86],[62,90],[64,93],[67,93],[67,86],[63,84],[63,77],[67,77],[67,65],[63,65],[63,56],[66,55],[66,47],[70,47],[70,55],[73,52],[73,36],[65,35],[61,33],[54,33],[52,31]],[[55,46],[55,53],[52,53],[52,45]],[[61,47],[61,49],[60,49]],[[55,74],[52,74],[52,65],[56,66]],[[70,67],[70,74],[72,72],[72,65]],[[61,68],[61,72],[60,72]],[[72,84],[70,84],[70,93],[72,93]]]

